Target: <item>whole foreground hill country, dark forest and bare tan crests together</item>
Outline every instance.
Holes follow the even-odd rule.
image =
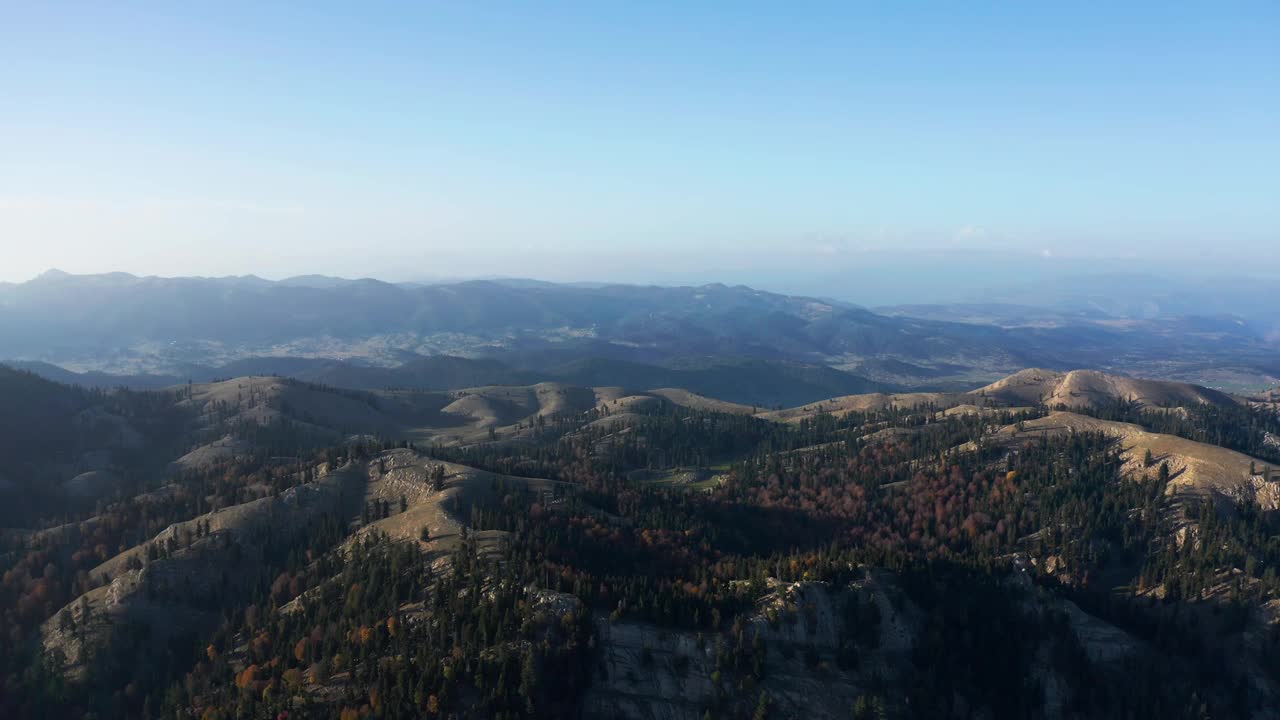
[[[481,716],[946,715],[941,687],[991,716],[1105,716],[1121,666],[1167,714],[1188,702],[1170,687],[1233,702],[1203,647],[1253,683],[1240,702],[1280,697],[1258,674],[1280,632],[1262,397],[1046,370],[783,410],[562,382],[6,382],[69,445],[150,459],[50,465],[60,515],[0,534],[14,657],[118,715],[358,697],[412,716],[416,676]],[[488,694],[458,693],[440,657]],[[1025,667],[1034,684],[998,679]],[[13,687],[0,710],[49,703]]]

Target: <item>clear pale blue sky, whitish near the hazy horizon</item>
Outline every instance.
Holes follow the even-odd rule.
[[[840,295],[913,263],[979,284],[1280,266],[1272,1],[0,0],[0,281]]]

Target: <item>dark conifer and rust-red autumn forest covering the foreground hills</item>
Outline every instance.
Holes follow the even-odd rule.
[[[788,662],[850,688],[832,701],[845,717],[1266,707],[1280,634],[1256,615],[1280,596],[1280,518],[1174,507],[1167,465],[1125,474],[1102,433],[989,441],[1048,411],[922,405],[778,424],[659,405],[609,423],[605,407],[461,447],[243,428],[252,456],[3,537],[0,716],[595,716],[602,688],[623,682],[608,628],[691,638],[700,655],[671,671],[705,666],[709,689],[681,710],[698,717],[804,716],[777,692]],[[1275,428],[1252,410],[1096,413],[1260,456]],[[404,495],[317,509],[288,530],[220,524],[227,509],[342,473],[384,477],[404,457],[458,521],[448,546],[426,524],[408,539],[379,530],[412,516]],[[448,496],[445,468],[486,479]],[[695,479],[654,480],[675,470]],[[1187,528],[1194,541],[1179,542]],[[137,612],[189,618],[164,626],[84,601],[115,592],[118,553],[141,578]],[[170,579],[193,564],[220,575]],[[820,620],[788,588],[831,598],[832,637],[780,641],[788,623]],[[1134,650],[1100,657],[1082,616]],[[902,618],[910,647],[890,655],[886,628]],[[73,662],[41,642],[50,628],[90,650]],[[663,667],[655,657],[645,646],[641,671]]]

